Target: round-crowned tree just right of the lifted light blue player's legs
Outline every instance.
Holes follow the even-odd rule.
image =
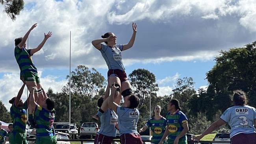
[[[151,94],[159,90],[158,84],[156,83],[156,76],[146,69],[139,68],[132,71],[132,73],[129,74],[129,78],[134,93],[140,98],[141,105],[143,105],[145,98],[150,94],[150,90]]]

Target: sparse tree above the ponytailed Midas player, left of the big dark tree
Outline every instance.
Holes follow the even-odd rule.
[[[173,93],[171,96],[176,98],[180,102],[180,107],[182,108],[182,112],[185,114],[189,114],[190,107],[188,105],[190,99],[196,95],[196,91],[194,88],[193,78],[183,78],[178,79],[177,84],[175,85],[175,89],[173,89]]]

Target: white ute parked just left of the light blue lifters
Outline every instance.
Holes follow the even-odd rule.
[[[96,133],[98,133],[98,131],[99,131],[99,128],[97,123],[84,122],[80,128],[80,137],[84,137],[86,135],[96,136]]]

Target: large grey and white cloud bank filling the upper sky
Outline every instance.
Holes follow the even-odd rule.
[[[13,55],[13,41],[23,36],[35,22],[38,26],[30,33],[30,48],[38,46],[43,40],[43,33],[48,31],[53,33],[42,50],[33,56],[33,61],[39,68],[67,66],[64,61],[69,61],[70,31],[72,32],[72,65],[83,64],[93,67],[102,67],[106,64],[101,59],[100,52],[91,45],[91,40],[100,38],[100,35],[106,31],[117,30],[122,36],[118,38],[119,41],[128,42],[132,32],[130,24],[133,21],[139,24],[134,45],[136,48],[127,51],[128,56],[124,56],[126,64],[141,61],[161,63],[173,60],[212,60],[223,48],[237,46],[237,43],[241,45],[248,43],[244,40],[237,42],[234,39],[237,33],[241,33],[237,31],[239,24],[251,32],[256,31],[254,18],[256,9],[251,8],[256,6],[255,0],[25,0],[24,2],[25,8],[15,22],[12,22],[5,13],[0,14],[2,19],[0,50],[5,52],[0,54],[1,71],[17,70],[16,61],[10,56]],[[3,7],[0,7],[0,11],[2,10]],[[237,23],[225,21],[230,15],[238,17]],[[204,20],[200,21],[200,19]],[[215,19],[215,23],[208,24],[209,19]],[[205,23],[203,24],[205,27],[201,26],[202,22]],[[129,26],[119,24],[129,24]],[[244,33],[248,36],[246,32]],[[241,35],[241,38],[244,36]],[[171,49],[170,45],[173,46]],[[155,51],[156,47],[160,50]],[[148,54],[145,54],[145,51]],[[8,67],[3,65],[6,63]]]

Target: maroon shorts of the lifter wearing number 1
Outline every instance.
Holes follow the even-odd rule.
[[[120,136],[121,144],[143,144],[141,135],[137,133],[125,133]]]

